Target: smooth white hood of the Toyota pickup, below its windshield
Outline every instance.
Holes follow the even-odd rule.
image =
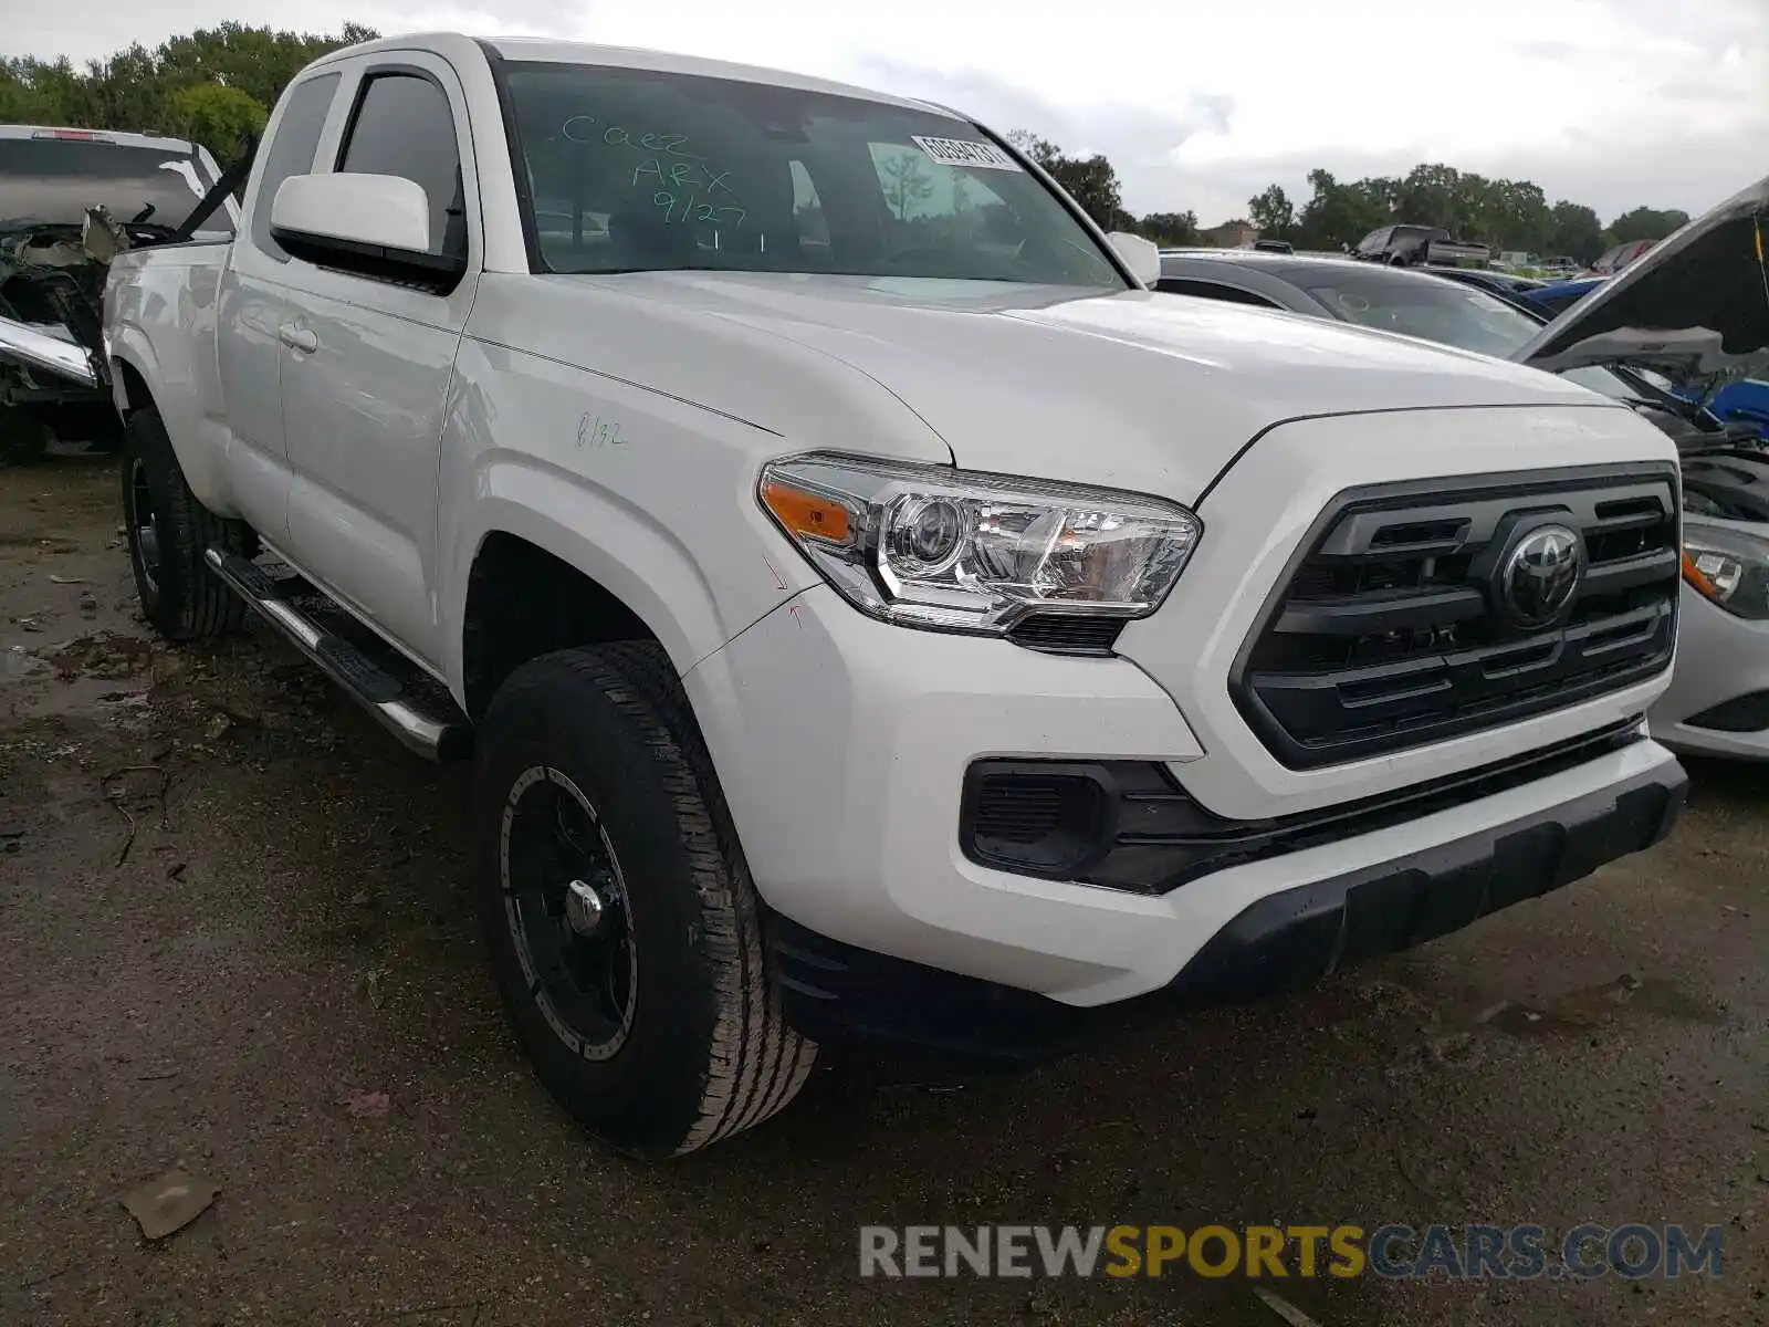
[[[1601,402],[1484,356],[1146,290],[777,272],[564,280],[842,361],[902,400],[962,467],[1180,501],[1286,419]],[[867,449],[842,433],[814,442]]]

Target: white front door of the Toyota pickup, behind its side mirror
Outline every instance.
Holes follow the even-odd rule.
[[[469,253],[453,290],[295,260],[283,345],[292,469],[290,552],[325,589],[421,664],[442,658],[437,469],[455,352],[478,271],[478,182],[453,69],[400,51],[366,57],[329,168],[402,175],[430,198],[430,251]]]

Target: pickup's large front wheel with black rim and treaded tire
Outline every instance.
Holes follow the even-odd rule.
[[[670,1157],[793,1101],[817,1047],[782,1017],[761,902],[656,644],[517,669],[479,727],[472,814],[499,994],[591,1134]]]

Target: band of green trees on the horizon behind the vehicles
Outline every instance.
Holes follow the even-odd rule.
[[[278,32],[242,23],[198,28],[157,48],[134,44],[108,60],[0,57],[0,124],[60,124],[80,129],[145,129],[191,138],[228,166],[264,129],[271,106],[302,65],[325,51],[379,34],[345,23],[338,34]],[[1068,154],[1047,138],[1017,129],[1008,138],[1044,166],[1107,230],[1134,230],[1164,246],[1198,244],[1198,214],[1123,209],[1111,161]],[[1413,166],[1341,184],[1332,172],[1309,172],[1313,195],[1297,207],[1277,184],[1247,200],[1247,221],[1267,239],[1307,249],[1357,244],[1376,226],[1412,221],[1444,226],[1456,239],[1495,249],[1566,255],[1592,262],[1612,244],[1663,239],[1686,212],[1636,207],[1604,226],[1583,203],[1548,202],[1530,180],[1486,179],[1445,165]],[[888,180],[897,214],[913,207],[913,177]]]

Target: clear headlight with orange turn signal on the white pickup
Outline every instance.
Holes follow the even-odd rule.
[[[948,632],[1145,617],[1203,533],[1155,497],[824,453],[764,465],[761,502],[854,607]]]

